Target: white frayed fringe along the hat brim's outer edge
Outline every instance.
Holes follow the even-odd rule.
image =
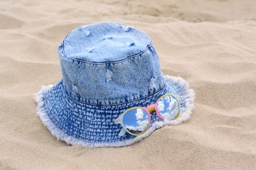
[[[182,79],[181,77],[168,75],[165,75],[164,78],[165,81],[171,81],[172,84],[175,84],[176,88],[179,88],[181,92],[183,92],[182,94],[180,94],[180,96],[185,101],[184,111],[181,112],[181,115],[177,120],[164,120],[161,122],[154,122],[154,124],[152,124],[152,126],[148,129],[148,131],[146,131],[146,133],[133,139],[127,139],[125,141],[119,141],[115,143],[85,143],[84,141],[68,136],[66,133],[64,133],[61,129],[59,129],[53,124],[53,122],[51,121],[49,116],[47,116],[47,113],[44,109],[43,93],[53,88],[53,84],[49,86],[42,86],[41,90],[39,90],[39,92],[35,94],[34,99],[37,102],[37,115],[41,118],[43,124],[45,124],[49,131],[51,131],[51,133],[58,140],[65,141],[68,144],[78,144],[81,146],[89,147],[119,147],[134,144],[137,143],[138,141],[141,141],[143,138],[148,137],[153,131],[155,131],[156,129],[160,129],[163,126],[173,126],[181,124],[181,122],[188,120],[188,118],[190,118],[190,114],[192,114],[192,110],[194,109],[194,98],[196,94],[194,90],[189,89],[188,81]]]

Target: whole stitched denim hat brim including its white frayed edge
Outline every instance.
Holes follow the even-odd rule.
[[[51,133],[68,144],[95,147],[118,147],[136,143],[148,137],[154,130],[162,126],[177,125],[188,120],[194,109],[194,90],[181,77],[164,76],[165,90],[129,103],[120,105],[90,105],[75,101],[67,95],[62,80],[57,84],[42,86],[35,94],[37,114]],[[114,119],[129,107],[146,107],[154,103],[165,93],[177,94],[181,98],[181,114],[179,118],[163,121],[151,114],[151,126],[140,136],[126,134],[119,137],[120,125],[114,124]]]

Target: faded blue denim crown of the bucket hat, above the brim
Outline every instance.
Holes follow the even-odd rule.
[[[77,101],[112,105],[165,86],[152,40],[129,25],[78,27],[62,41],[58,53],[64,87]]]

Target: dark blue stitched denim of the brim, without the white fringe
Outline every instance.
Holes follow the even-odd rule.
[[[45,111],[55,126],[67,135],[93,145],[134,138],[135,136],[129,133],[119,137],[121,126],[114,124],[114,120],[131,107],[146,107],[156,102],[165,93],[167,93],[166,88],[154,95],[119,105],[89,105],[74,101],[69,97],[61,80],[51,90],[44,93],[43,101],[47,106]],[[152,123],[159,119],[156,114],[152,114]]]

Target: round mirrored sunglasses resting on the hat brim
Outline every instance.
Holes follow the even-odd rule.
[[[150,127],[150,112],[154,110],[162,120],[179,118],[181,112],[179,95],[165,94],[156,103],[147,107],[132,107],[125,110],[114,120],[115,124],[121,124],[123,127],[119,136],[125,135],[126,132],[135,136],[145,133]]]

